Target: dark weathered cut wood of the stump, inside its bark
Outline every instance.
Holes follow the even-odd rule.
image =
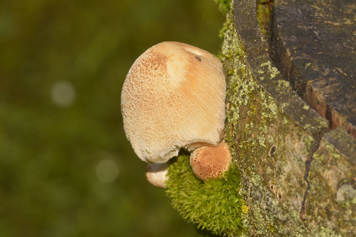
[[[278,0],[271,52],[277,68],[312,108],[356,137],[356,3]]]

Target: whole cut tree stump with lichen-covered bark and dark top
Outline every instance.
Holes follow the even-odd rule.
[[[269,47],[235,0],[222,49],[245,234],[356,236],[356,3],[274,4]]]

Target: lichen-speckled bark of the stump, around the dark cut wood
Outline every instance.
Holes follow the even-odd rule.
[[[224,32],[225,140],[241,173],[247,234],[356,236],[355,138],[344,123],[330,130],[337,126],[312,108],[307,90],[298,94],[286,78],[287,64],[279,66],[282,73],[273,66],[293,60],[278,36],[285,52],[273,54],[273,61],[267,54],[256,1],[235,0]],[[312,76],[305,85],[323,80]],[[356,101],[350,103],[347,108],[355,109]]]

